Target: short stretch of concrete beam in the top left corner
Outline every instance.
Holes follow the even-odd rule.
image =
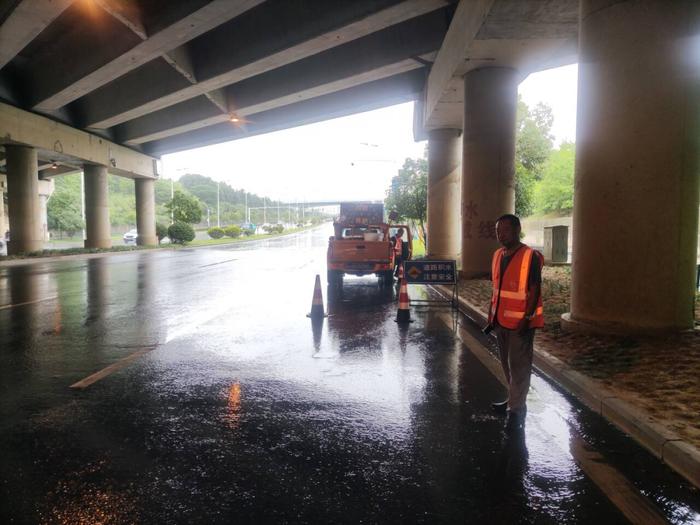
[[[0,26],[0,69],[53,22],[73,0],[22,0]]]

